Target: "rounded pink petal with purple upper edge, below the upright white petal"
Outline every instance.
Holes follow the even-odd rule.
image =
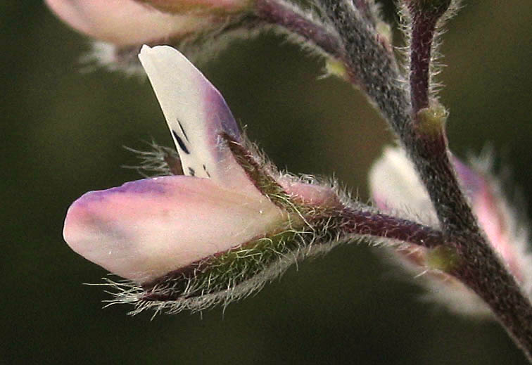
[[[114,274],[143,283],[272,232],[286,217],[210,179],[143,179],[91,191],[68,210],[70,248]]]

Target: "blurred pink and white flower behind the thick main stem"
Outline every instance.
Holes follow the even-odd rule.
[[[532,293],[532,258],[526,251],[528,232],[519,226],[509,209],[497,180],[486,163],[468,167],[452,159],[471,207],[489,243],[528,294]],[[386,212],[403,215],[438,228],[436,213],[414,167],[399,148],[386,148],[369,174],[369,185],[376,205]],[[455,312],[486,316],[488,307],[471,290],[431,263],[431,253],[416,245],[402,245],[393,257],[418,277],[430,295]]]

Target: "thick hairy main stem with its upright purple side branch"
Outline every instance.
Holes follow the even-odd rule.
[[[420,1],[423,6],[430,3]],[[320,4],[340,34],[350,69],[356,70],[368,96],[379,106],[414,162],[441,223],[445,245],[455,248],[462,259],[450,274],[486,301],[532,360],[532,305],[490,248],[471,212],[450,164],[443,123],[439,128],[427,127],[421,120],[419,112],[429,107],[433,25],[419,27],[412,34],[415,54],[409,97],[396,82],[401,76],[393,56],[378,43],[360,14],[344,1],[322,0]]]

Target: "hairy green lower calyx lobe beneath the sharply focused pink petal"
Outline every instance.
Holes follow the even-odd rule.
[[[311,231],[290,229],[220,252],[160,278],[144,288],[141,300],[173,301],[176,306],[194,310],[187,301],[211,296],[212,305],[246,296],[276,277],[280,271],[271,269],[279,267],[280,262],[286,261],[287,266],[297,260],[305,239],[310,237]]]

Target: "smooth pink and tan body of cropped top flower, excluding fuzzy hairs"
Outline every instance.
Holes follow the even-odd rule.
[[[145,3],[145,4],[142,4]],[[46,0],[65,23],[119,46],[183,39],[220,27],[248,0]]]

